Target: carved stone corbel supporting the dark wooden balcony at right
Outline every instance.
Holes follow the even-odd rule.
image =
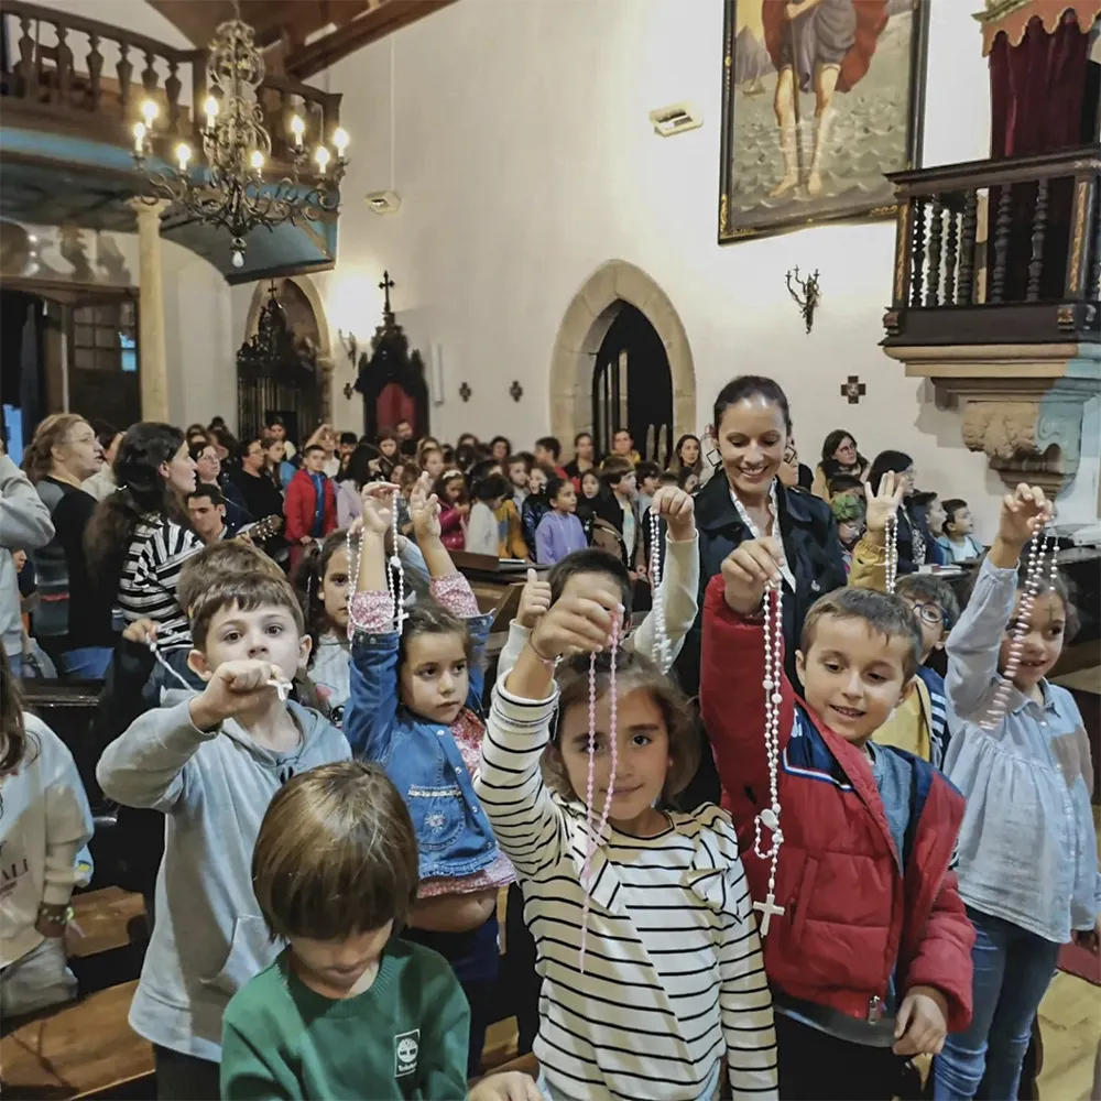
[[[982,451],[1009,487],[1051,497],[1078,473],[1086,405],[1101,395],[1101,346],[966,345],[884,348],[911,378],[952,394],[969,450]]]

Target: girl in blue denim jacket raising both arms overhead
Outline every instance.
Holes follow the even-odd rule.
[[[481,754],[483,674],[476,657],[491,617],[440,542],[439,501],[422,478],[410,500],[430,577],[399,632],[383,542],[395,486],[364,488],[357,591],[350,607],[351,695],[344,731],[352,753],[377,761],[402,793],[419,852],[421,883],[403,936],[435,949],[470,1002],[469,1071],[477,1073],[498,973],[498,890],[515,879],[471,782]]]

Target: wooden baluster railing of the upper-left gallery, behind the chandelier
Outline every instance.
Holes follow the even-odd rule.
[[[141,103],[152,99],[160,108],[153,137],[157,155],[174,160],[172,149],[181,140],[200,146],[206,50],[177,50],[126,28],[23,0],[0,0],[0,18],[9,53],[0,70],[6,124],[130,148]],[[291,160],[295,115],[306,124],[307,146],[331,144],[340,123],[339,95],[270,75],[259,99],[274,161]]]

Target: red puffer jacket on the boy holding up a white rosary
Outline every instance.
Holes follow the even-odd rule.
[[[768,804],[763,679],[763,626],[735,615],[722,576],[712,577],[700,708],[757,901],[770,865],[753,853],[753,819]],[[911,986],[934,986],[948,1001],[949,1029],[966,1028],[974,928],[949,871],[963,797],[927,762],[905,754],[913,794],[900,873],[868,759],[796,699],[786,676],[782,691],[776,902],[784,913],[764,938],[773,989],[869,1020],[897,966],[898,1000]]]

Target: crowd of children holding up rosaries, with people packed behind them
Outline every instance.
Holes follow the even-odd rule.
[[[1016,1097],[1059,946],[1101,933],[1089,745],[1047,679],[1075,609],[1028,568],[1050,503],[1005,498],[961,611],[918,567],[982,554],[966,502],[831,434],[804,479],[822,500],[781,500],[808,530],[832,510],[849,584],[785,637],[786,399],[734,380],[715,419],[760,490],[722,494],[735,543],[717,494],[697,516],[694,436],[662,472],[625,432],[563,467],[553,437],[445,454],[406,425],[367,455],[323,430],[287,488],[293,584],[244,543],[201,547],[164,503],[188,442],[145,427],[162,508],[127,538],[187,546],[129,579],[96,776],[164,820],[130,1012],[160,1098],[872,1099],[917,1095],[919,1055],[935,1098]],[[285,477],[277,443],[246,449],[248,477]],[[464,548],[552,567],[528,569],[489,685]],[[694,628],[721,806],[685,796],[701,741],[672,666]],[[2,673],[7,1017],[73,996],[92,829]],[[473,1081],[503,893],[538,1073]]]

